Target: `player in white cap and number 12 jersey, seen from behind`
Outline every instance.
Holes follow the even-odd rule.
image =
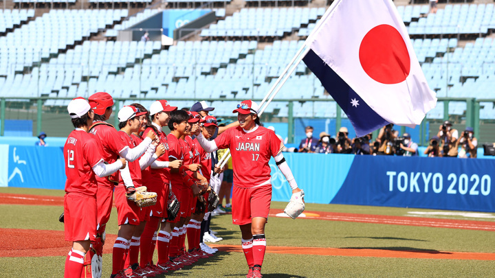
[[[126,161],[118,159],[110,165],[104,164],[96,139],[87,133],[94,119],[87,100],[83,97],[72,100],[67,111],[76,129],[69,134],[64,146],[67,176],[64,198],[65,240],[73,242],[72,250],[65,260],[64,277],[81,277],[85,262],[91,262],[92,259],[93,254],[88,252],[91,241],[96,240],[95,174],[100,177],[113,174],[123,168]]]

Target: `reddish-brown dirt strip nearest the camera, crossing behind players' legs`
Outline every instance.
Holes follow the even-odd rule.
[[[107,235],[104,253],[111,253],[116,235]],[[71,247],[65,242],[63,231],[46,231],[30,229],[0,229],[0,240],[3,248],[0,257],[45,257],[65,256]],[[212,245],[224,252],[241,252],[241,246]],[[441,251],[409,251],[385,249],[353,249],[353,248],[316,248],[316,247],[287,247],[267,246],[267,253],[324,255],[344,257],[398,257],[417,259],[474,259],[495,261],[495,253],[467,253]]]

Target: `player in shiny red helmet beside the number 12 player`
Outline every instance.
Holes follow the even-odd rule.
[[[155,135],[151,134],[145,138],[139,146],[129,148],[129,146],[120,139],[117,130],[110,124],[107,124],[112,113],[113,99],[111,95],[99,92],[89,97],[89,104],[94,111],[94,123],[89,132],[96,136],[100,154],[105,161],[113,163],[119,157],[127,161],[135,161],[144,154]],[[97,238],[94,248],[100,257],[100,266],[102,264],[102,253],[104,244],[105,226],[110,218],[111,206],[113,201],[113,187],[118,183],[118,174],[107,178],[96,178],[98,182],[97,205],[98,205],[98,225]]]

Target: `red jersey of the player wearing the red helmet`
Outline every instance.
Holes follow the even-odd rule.
[[[95,124],[98,124],[98,122]],[[108,163],[114,163],[119,158],[119,153],[125,148],[129,148],[129,146],[122,141],[120,135],[118,135],[118,131],[107,123],[94,126],[89,132],[96,136],[96,139],[98,140],[98,149],[100,150],[102,159]],[[96,176],[98,186],[113,188],[113,183],[109,181],[109,178],[117,181],[118,173],[115,173],[115,176],[110,175],[105,176],[104,178]]]

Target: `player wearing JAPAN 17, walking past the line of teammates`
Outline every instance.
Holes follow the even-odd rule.
[[[262,277],[261,266],[265,257],[265,224],[272,200],[270,183],[270,157],[292,188],[292,194],[300,192],[285,162],[281,150],[283,142],[272,130],[260,125],[258,105],[245,100],[237,105],[239,127],[230,128],[214,141],[206,140],[200,132],[197,139],[206,152],[229,148],[234,167],[234,190],[232,192],[232,222],[241,228],[242,247],[249,272],[246,277]]]

